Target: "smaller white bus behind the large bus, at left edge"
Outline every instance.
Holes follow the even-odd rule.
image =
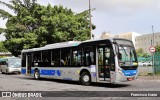
[[[0,59],[0,71],[6,73],[21,73],[21,58],[6,57]]]

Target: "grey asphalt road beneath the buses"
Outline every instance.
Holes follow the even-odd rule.
[[[92,83],[90,86],[79,85],[78,82],[62,81],[54,79],[35,80],[33,77],[18,74],[0,74],[0,91],[160,91],[160,80],[137,79],[130,82],[122,82],[119,84]],[[97,100],[99,97],[79,97],[79,100]],[[121,99],[123,97],[102,97],[101,99]],[[143,97],[145,98],[145,97]],[[18,99],[18,98],[16,98]],[[22,99],[22,98],[21,98]],[[18,99],[18,100],[21,100]],[[33,98],[32,98],[33,99]],[[36,98],[34,98],[36,99]],[[41,98],[40,98],[41,99]],[[40,100],[38,99],[38,100]],[[49,98],[48,98],[49,99]],[[52,98],[50,98],[52,99]],[[56,98],[54,98],[55,100]],[[72,100],[75,97],[61,97],[58,100]],[[130,98],[130,99],[135,99]],[[152,98],[157,99],[157,97]],[[10,100],[10,99],[9,99]],[[27,99],[30,100],[30,99]],[[43,98],[42,100],[45,100]],[[52,99],[53,100],[53,99]]]

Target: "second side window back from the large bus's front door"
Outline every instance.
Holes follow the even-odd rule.
[[[82,60],[82,51],[81,49],[73,49],[72,51],[72,65],[80,66]]]

